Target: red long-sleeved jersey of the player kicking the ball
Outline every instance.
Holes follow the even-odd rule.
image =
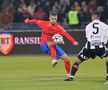
[[[52,36],[54,34],[60,34],[69,39],[72,43],[75,41],[73,37],[71,37],[63,27],[56,23],[51,26],[49,21],[42,20],[28,20],[28,23],[34,23],[42,28],[41,42],[40,44],[44,44],[45,42],[52,41]]]

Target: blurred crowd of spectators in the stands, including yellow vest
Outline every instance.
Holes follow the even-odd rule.
[[[108,23],[108,0],[0,0],[0,23],[23,23],[26,18],[48,20],[51,10],[66,28],[78,28],[90,22],[93,11]]]

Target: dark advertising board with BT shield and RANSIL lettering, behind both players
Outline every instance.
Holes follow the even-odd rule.
[[[64,38],[64,45],[61,47],[66,53],[76,54],[85,44],[84,32],[69,31],[78,42],[79,46],[73,44]],[[41,32],[9,32],[0,33],[0,51],[5,55],[26,55],[26,54],[43,54],[40,50],[40,36]],[[83,42],[82,42],[83,41]]]

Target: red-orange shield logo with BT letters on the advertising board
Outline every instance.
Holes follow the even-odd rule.
[[[14,46],[12,34],[0,34],[0,51],[7,55]]]

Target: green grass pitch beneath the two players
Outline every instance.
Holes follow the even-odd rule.
[[[75,56],[69,56],[73,64]],[[0,90],[108,90],[105,60],[80,65],[74,81],[66,82],[64,63],[51,67],[49,56],[0,56]]]

